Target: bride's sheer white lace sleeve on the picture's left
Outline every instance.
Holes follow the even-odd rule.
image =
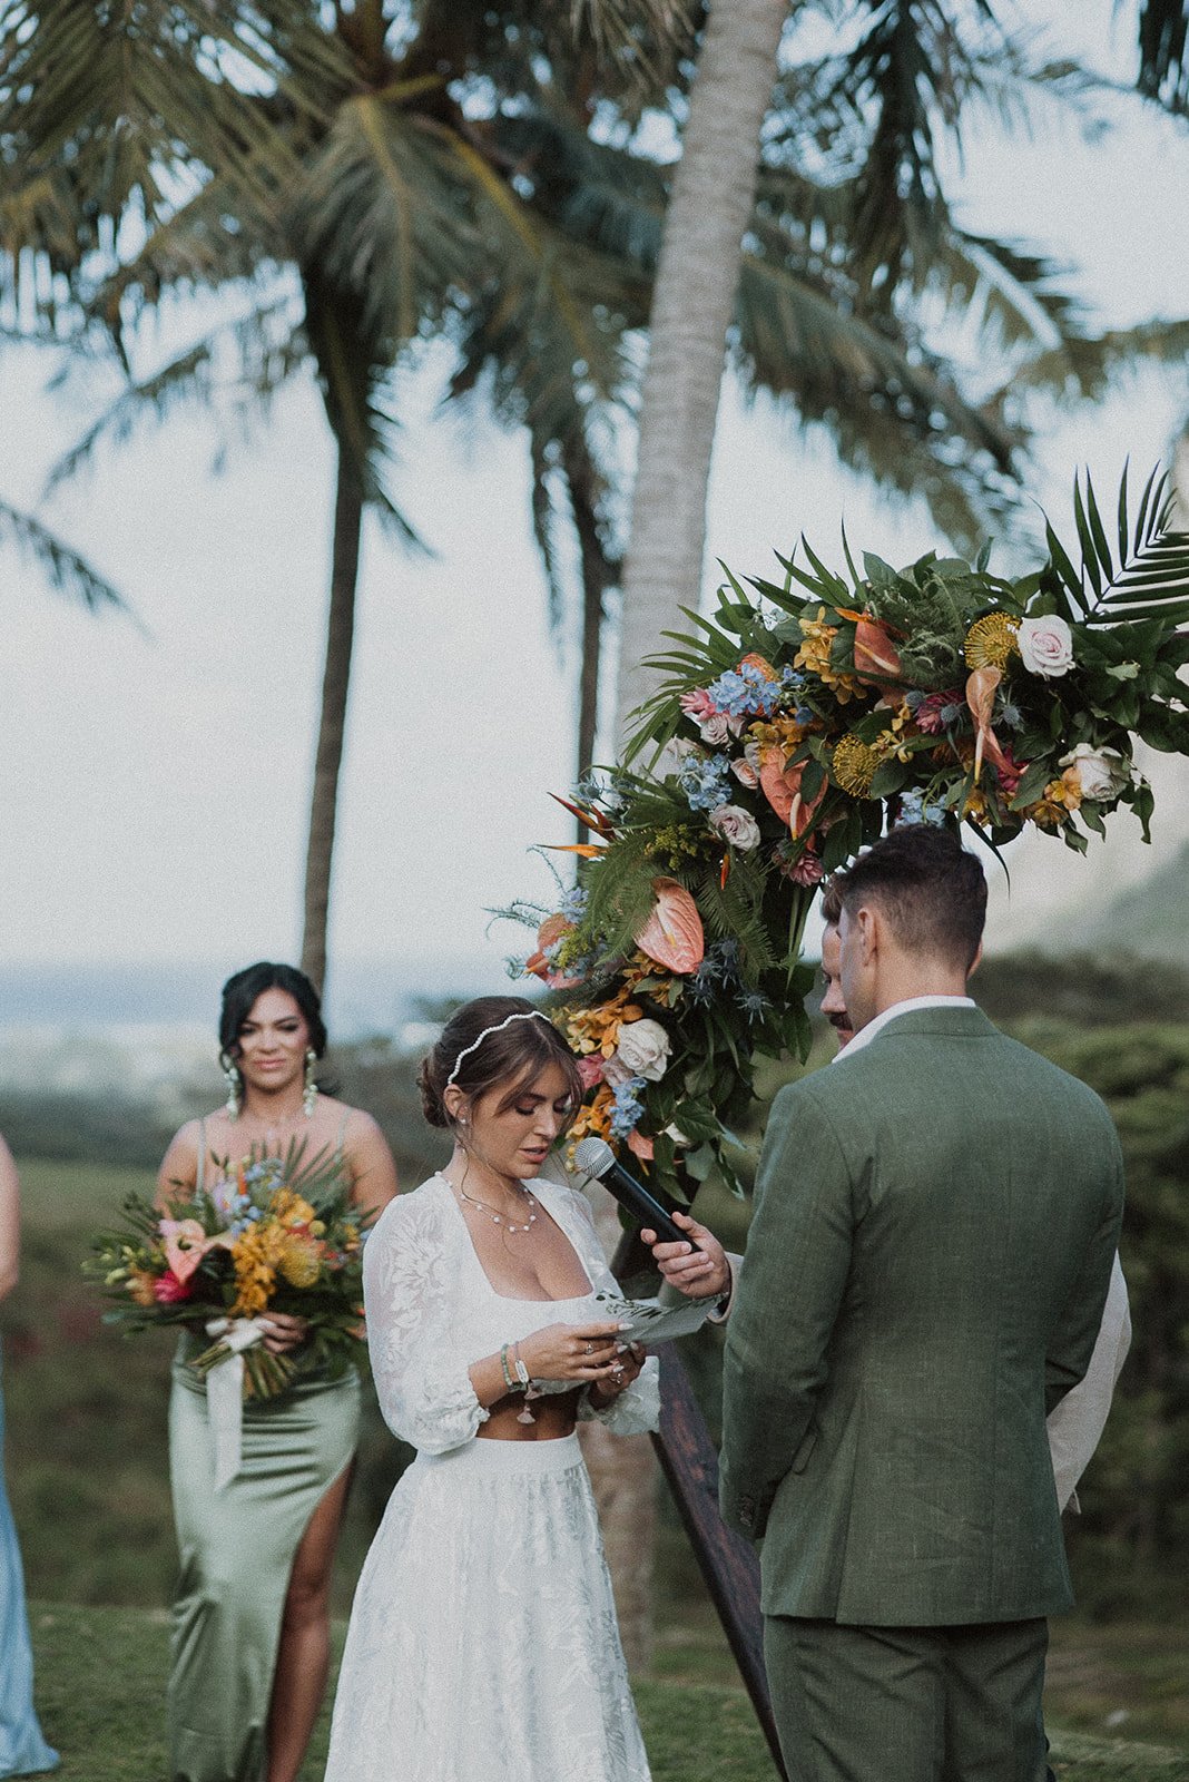
[[[470,1442],[488,1411],[450,1340],[450,1287],[433,1205],[392,1201],[363,1249],[372,1377],[384,1422],[427,1454]]]

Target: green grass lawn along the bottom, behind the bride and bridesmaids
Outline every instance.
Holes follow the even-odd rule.
[[[164,1782],[166,1613],[34,1602],[30,1623],[41,1721],[62,1752],[62,1782]],[[335,1632],[340,1643],[342,1622]],[[669,1639],[662,1668],[698,1661],[696,1641],[687,1657],[683,1650]],[[653,1782],[772,1782],[767,1748],[739,1688],[659,1675],[639,1684],[635,1696]],[[304,1782],[322,1775],[328,1720],[324,1713]],[[1054,1768],[1061,1782],[1185,1782],[1189,1752],[1054,1729]]]

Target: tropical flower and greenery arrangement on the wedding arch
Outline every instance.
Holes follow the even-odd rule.
[[[739,1189],[755,1060],[808,1050],[817,886],[888,827],[965,823],[993,850],[1036,829],[1084,852],[1127,805],[1148,839],[1134,740],[1189,754],[1171,513],[1153,472],[1132,515],[1125,474],[1107,531],[1086,478],[1077,544],[1047,524],[1020,577],[990,549],[860,568],[844,538],[844,574],[803,544],[780,583],[726,572],[714,617],[687,609],[625,764],[562,800],[591,838],[577,884],[514,911],[539,921],[520,969],[580,1057],[573,1140],[627,1146],[678,1199],[714,1169]]]

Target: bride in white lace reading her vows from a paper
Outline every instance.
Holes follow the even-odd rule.
[[[616,1342],[586,1201],[538,1180],[578,1096],[516,996],[466,1003],[422,1064],[454,1155],[363,1262],[379,1402],[418,1454],[360,1577],[328,1782],[648,1782],[575,1422],[653,1429],[657,1363]]]

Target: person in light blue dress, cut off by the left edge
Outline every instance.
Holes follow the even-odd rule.
[[[0,1139],[0,1299],[16,1287],[20,1189],[7,1144]],[[4,1397],[0,1397],[0,1458]],[[0,1777],[27,1777],[57,1766],[34,1714],[34,1657],[28,1647],[21,1554],[0,1468]]]

